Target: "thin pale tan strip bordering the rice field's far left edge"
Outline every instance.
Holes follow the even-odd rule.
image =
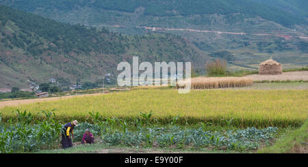
[[[40,98],[40,99],[26,99],[26,100],[8,100],[0,102],[0,108],[5,106],[19,106],[21,104],[31,104],[36,102],[47,102],[52,100],[62,100],[68,99],[72,97],[84,97],[84,96],[91,96],[91,95],[103,95],[103,93],[92,93],[92,94],[84,94],[84,95],[66,95],[60,97],[47,97],[47,98]]]

